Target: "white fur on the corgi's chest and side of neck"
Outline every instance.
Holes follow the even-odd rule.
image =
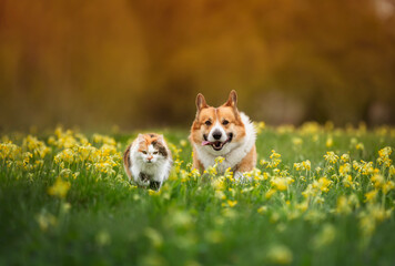
[[[227,143],[221,151],[214,151],[210,145],[202,146],[196,143],[194,144],[199,161],[203,164],[204,168],[214,165],[215,158],[222,156],[225,160],[219,165],[217,171],[223,173],[229,167],[234,170],[249,154],[255,144],[256,132],[247,115],[241,113],[241,117],[245,126],[245,136],[242,141]]]

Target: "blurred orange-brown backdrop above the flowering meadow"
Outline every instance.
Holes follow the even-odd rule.
[[[393,0],[1,0],[0,126],[394,124]]]

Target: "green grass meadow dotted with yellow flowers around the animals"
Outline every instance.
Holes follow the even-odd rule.
[[[393,265],[394,129],[263,127],[245,183],[165,130],[160,192],[126,181],[134,133],[2,135],[0,265]]]

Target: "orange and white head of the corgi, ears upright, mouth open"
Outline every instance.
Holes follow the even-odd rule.
[[[245,129],[236,104],[235,91],[231,91],[227,101],[219,108],[207,105],[204,96],[199,93],[191,141],[217,154],[221,154],[220,151],[223,151],[225,146],[240,142],[245,136]]]

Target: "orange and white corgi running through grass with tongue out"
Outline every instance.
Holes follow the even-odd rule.
[[[193,147],[193,167],[202,171],[224,158],[220,173],[231,168],[236,180],[256,165],[256,132],[250,117],[237,110],[237,94],[231,91],[229,100],[219,108],[206,104],[204,96],[196,96],[196,116],[190,141]]]

